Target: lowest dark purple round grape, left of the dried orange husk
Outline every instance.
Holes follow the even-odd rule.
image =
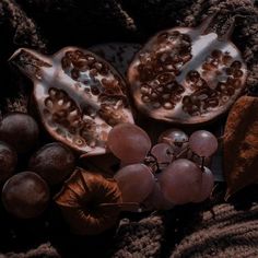
[[[20,219],[39,215],[46,209],[48,200],[47,183],[32,172],[22,172],[12,176],[2,189],[3,207]]]

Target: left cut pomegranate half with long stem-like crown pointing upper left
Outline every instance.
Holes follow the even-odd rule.
[[[126,83],[98,56],[74,47],[52,57],[21,48],[11,61],[34,81],[47,131],[74,150],[105,153],[109,130],[119,122],[133,122]]]

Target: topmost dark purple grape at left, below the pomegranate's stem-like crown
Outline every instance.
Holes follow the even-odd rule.
[[[39,129],[33,117],[12,113],[0,122],[0,140],[13,146],[17,153],[26,153],[36,144]]]

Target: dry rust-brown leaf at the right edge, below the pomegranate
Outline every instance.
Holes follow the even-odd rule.
[[[243,96],[227,117],[224,134],[225,199],[258,183],[258,97]]]

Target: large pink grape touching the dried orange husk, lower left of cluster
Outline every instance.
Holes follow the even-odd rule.
[[[143,164],[122,167],[114,176],[121,191],[124,202],[141,203],[154,188],[154,176]]]

